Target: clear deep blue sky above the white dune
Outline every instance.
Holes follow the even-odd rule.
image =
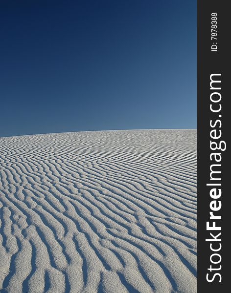
[[[0,136],[196,128],[196,0],[0,1]]]

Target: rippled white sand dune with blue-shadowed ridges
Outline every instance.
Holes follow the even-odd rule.
[[[196,130],[0,138],[1,293],[195,293]]]

